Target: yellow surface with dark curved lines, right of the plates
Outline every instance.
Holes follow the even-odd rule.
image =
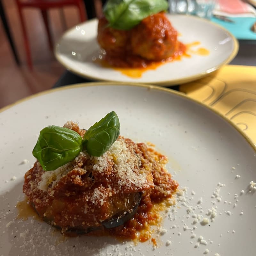
[[[226,116],[256,145],[256,67],[225,65],[180,92]]]

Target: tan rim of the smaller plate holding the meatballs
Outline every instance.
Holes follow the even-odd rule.
[[[174,80],[166,80],[166,81],[159,81],[159,82],[152,82],[153,84],[156,84],[156,85],[162,85],[162,86],[170,86],[170,85],[177,85],[177,84],[184,84],[184,83],[187,83],[187,82],[192,82],[196,79],[199,79],[199,78],[203,78],[204,76],[207,76],[208,74],[220,69],[223,65],[225,64],[228,64],[230,63],[237,55],[237,52],[239,50],[239,42],[238,40],[236,39],[236,37],[230,33],[226,28],[223,28],[222,26],[220,26],[219,24],[216,24],[210,20],[207,20],[207,19],[203,19],[203,18],[199,18],[199,17],[196,17],[196,16],[191,16],[191,15],[183,15],[183,14],[170,14],[170,13],[167,13],[168,16],[176,16],[176,17],[186,17],[188,19],[196,19],[196,20],[203,20],[204,22],[206,23],[209,23],[223,31],[225,31],[233,40],[234,42],[234,49],[233,51],[231,52],[230,56],[224,60],[223,62],[221,62],[219,65],[213,67],[213,68],[210,68],[210,69],[207,69],[207,70],[204,70],[202,71],[200,74],[196,74],[196,75],[193,75],[193,76],[188,76],[188,77],[184,77],[182,79],[174,79]],[[102,79],[100,77],[97,77],[97,76],[90,76],[89,74],[88,75],[85,75],[83,72],[80,72],[79,70],[76,70],[75,68],[71,67],[70,65],[68,65],[65,61],[63,61],[60,57],[60,54],[58,52],[58,47],[60,45],[60,42],[63,40],[63,38],[72,30],[74,30],[77,26],[81,26],[83,24],[88,24],[88,23],[93,23],[93,22],[97,22],[97,18],[94,18],[94,19],[91,19],[91,20],[87,20],[85,22],[82,22],[82,23],[79,23],[75,26],[73,26],[72,28],[69,28],[66,32],[64,32],[64,34],[59,38],[59,40],[57,41],[57,43],[55,44],[54,46],[54,56],[55,58],[57,59],[57,61],[63,66],[65,67],[68,71],[71,71],[72,73],[80,76],[80,77],[83,77],[83,78],[89,78],[89,79],[92,79],[94,81],[102,81],[102,82],[118,82],[116,80],[111,80],[111,79]],[[125,82],[124,82],[125,83]],[[127,83],[130,83],[130,82],[127,82]],[[135,81],[135,83],[139,83],[139,84],[152,84],[151,82],[140,82],[140,81]]]

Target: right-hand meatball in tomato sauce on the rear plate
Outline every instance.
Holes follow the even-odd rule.
[[[163,12],[150,15],[131,31],[131,49],[147,60],[171,57],[177,46],[177,31]]]

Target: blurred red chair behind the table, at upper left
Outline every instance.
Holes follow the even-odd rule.
[[[25,27],[25,21],[24,21],[24,17],[22,14],[23,8],[33,7],[33,8],[38,8],[41,10],[42,17],[44,20],[44,25],[45,25],[47,36],[48,36],[48,42],[49,42],[50,49],[52,49],[53,46],[52,46],[52,38],[51,38],[51,33],[50,33],[50,28],[49,28],[49,23],[48,23],[48,15],[47,15],[48,9],[62,8],[65,6],[74,5],[78,8],[81,22],[87,20],[87,14],[86,14],[86,9],[85,9],[83,0],[16,0],[16,3],[18,6],[20,23],[21,23],[23,37],[24,37],[27,63],[28,63],[28,67],[31,70],[32,70],[31,52],[30,52],[30,47],[29,47],[29,42],[28,42],[28,35],[27,35],[26,27]]]

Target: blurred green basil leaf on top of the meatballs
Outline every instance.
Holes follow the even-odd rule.
[[[149,15],[167,9],[166,0],[109,0],[103,13],[110,27],[129,30]]]

